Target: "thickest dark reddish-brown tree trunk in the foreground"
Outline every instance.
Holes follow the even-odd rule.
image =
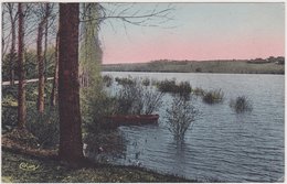
[[[78,3],[60,4],[59,156],[71,163],[84,158],[79,112],[78,15]]]

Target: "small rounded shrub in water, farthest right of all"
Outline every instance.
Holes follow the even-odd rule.
[[[252,101],[245,96],[240,96],[235,100],[232,99],[230,107],[237,113],[253,110]]]

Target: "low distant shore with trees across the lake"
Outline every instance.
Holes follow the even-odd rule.
[[[170,61],[149,63],[107,64],[105,72],[166,72],[166,73],[227,73],[227,74],[284,74],[285,57],[224,61]]]

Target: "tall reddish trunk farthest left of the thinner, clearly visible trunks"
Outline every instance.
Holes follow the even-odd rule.
[[[24,14],[22,11],[22,3],[18,7],[19,13],[19,31],[18,31],[18,128],[25,127],[26,107],[25,107],[25,73],[24,73]]]

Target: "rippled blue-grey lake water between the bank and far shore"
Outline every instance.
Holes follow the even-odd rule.
[[[171,98],[164,96],[158,126],[120,127],[127,140],[124,156],[115,164],[137,164],[187,178],[220,182],[275,182],[284,176],[284,75],[119,73],[113,77],[177,78],[192,87],[222,89],[223,104],[193,105],[201,118],[185,133],[183,143],[173,140],[164,123]],[[236,115],[230,99],[245,95],[253,111]]]

